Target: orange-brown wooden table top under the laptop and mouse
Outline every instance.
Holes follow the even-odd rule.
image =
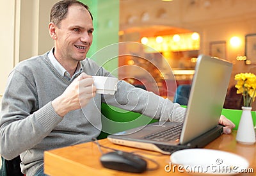
[[[170,164],[170,156],[162,155],[157,152],[140,150],[137,148],[124,147],[114,145],[107,139],[99,140],[101,145],[106,147],[124,150],[127,152],[136,151],[137,154],[149,157],[160,164],[158,170],[143,172],[140,175],[191,175],[189,173],[166,172],[164,167]],[[236,131],[232,134],[223,134],[216,140],[209,143],[205,148],[212,148],[232,152],[245,157],[250,162],[249,168],[253,169],[254,173],[239,173],[238,175],[256,175],[256,145],[242,145],[236,143]],[[102,148],[102,151],[111,152],[109,149]],[[147,152],[147,153],[145,153]],[[45,173],[48,175],[139,175],[136,173],[118,172],[102,167],[100,164],[101,153],[95,143],[83,143],[70,147],[58,148],[46,151]],[[149,167],[154,167],[153,163],[148,161]]]

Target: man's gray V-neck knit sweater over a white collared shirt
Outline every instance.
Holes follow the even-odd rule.
[[[47,56],[36,56],[13,68],[2,99],[0,152],[5,159],[20,155],[22,172],[35,175],[44,165],[44,151],[97,138],[101,129],[100,106],[143,113],[159,120],[182,122],[185,109],[152,92],[118,82],[115,95],[97,94],[82,109],[58,116],[51,101],[71,83],[54,68]],[[109,76],[95,61],[81,62],[88,75]],[[129,94],[129,96],[128,96]]]

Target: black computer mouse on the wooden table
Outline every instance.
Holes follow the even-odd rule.
[[[129,152],[115,151],[103,154],[100,162],[105,168],[141,173],[147,170],[147,161]]]

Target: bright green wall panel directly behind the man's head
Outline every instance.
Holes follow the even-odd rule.
[[[118,0],[80,0],[87,4],[93,15],[93,43],[87,56],[117,75],[118,58],[107,58],[100,49],[108,45],[118,43],[119,31],[119,1]],[[113,49],[111,55],[118,56],[118,45]],[[101,53],[100,53],[101,52]],[[104,51],[106,52],[106,50]],[[102,56],[103,55],[103,56]]]

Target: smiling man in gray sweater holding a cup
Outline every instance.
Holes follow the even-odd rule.
[[[93,38],[88,6],[75,0],[54,4],[49,33],[54,40],[52,50],[13,68],[2,100],[1,155],[6,159],[20,155],[23,173],[44,175],[45,150],[97,138],[101,102],[182,122],[185,109],[179,104],[124,81],[119,81],[115,95],[95,93],[92,76],[111,75],[86,58]],[[137,96],[134,106],[131,100]],[[223,116],[220,123],[227,125],[227,133],[234,127]]]

